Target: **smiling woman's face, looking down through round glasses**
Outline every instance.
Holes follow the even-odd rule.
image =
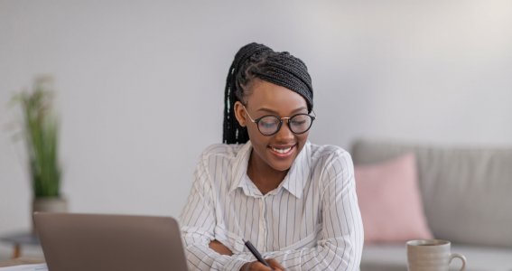
[[[268,166],[275,171],[287,171],[303,149],[309,131],[295,135],[290,131],[287,120],[283,120],[283,125],[275,135],[262,135],[247,113],[253,119],[265,115],[292,117],[299,113],[307,114],[306,100],[290,89],[260,79],[253,81],[250,88],[250,94],[246,97],[247,111],[242,103],[237,102],[235,114],[240,126],[247,126],[253,145],[251,163],[256,163],[257,168]]]

